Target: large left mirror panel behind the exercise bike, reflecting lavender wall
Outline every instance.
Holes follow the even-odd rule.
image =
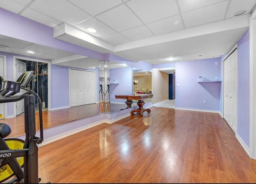
[[[0,35],[0,45],[6,46],[5,48],[0,47],[0,55],[6,57],[7,60],[7,72],[4,71],[4,75],[6,76],[4,80],[16,80],[12,67],[15,67],[16,61],[14,57],[18,59],[21,58],[20,60],[26,63],[26,70],[33,70],[37,75],[35,91],[38,91],[40,98],[44,102],[44,129],[99,114],[98,103],[72,108],[68,107],[68,67],[94,71],[96,73],[95,84],[98,84],[98,59],[14,39],[4,35]],[[34,53],[27,53],[28,50],[33,51]],[[49,65],[43,63],[44,61],[51,63],[50,68]],[[48,93],[46,92],[48,92],[48,86],[45,86],[47,85],[47,82],[49,84],[49,80],[46,80],[45,78],[48,77],[49,74],[51,74],[51,101],[47,98]],[[0,73],[0,75],[2,74]],[[42,80],[40,78],[42,78]],[[98,91],[97,87],[96,90]],[[96,102],[98,102],[98,95],[96,95]],[[8,109],[8,114],[4,115],[3,118],[0,118],[0,122],[7,123],[11,126],[12,133],[9,137],[24,135],[24,124],[22,123],[24,122],[24,113],[13,117],[15,116],[14,105],[14,102],[6,103],[6,105],[0,104],[0,114],[5,114],[4,112],[7,112]],[[51,105],[51,111],[48,111],[47,107],[49,105]],[[38,119],[36,119],[36,121],[38,122]],[[39,126],[36,127],[37,130],[39,129],[38,127]]]

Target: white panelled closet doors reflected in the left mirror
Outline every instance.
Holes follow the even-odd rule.
[[[70,69],[70,107],[96,103],[95,72]]]

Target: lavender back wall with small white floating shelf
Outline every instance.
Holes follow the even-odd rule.
[[[215,80],[218,76],[219,79],[220,58],[176,63],[175,107],[219,111],[221,82],[197,82],[198,76],[208,80]]]

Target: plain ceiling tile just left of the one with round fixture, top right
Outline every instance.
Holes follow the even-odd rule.
[[[185,27],[188,28],[223,20],[227,6],[228,1],[224,1],[212,6],[206,6],[204,8],[183,13],[182,17]]]

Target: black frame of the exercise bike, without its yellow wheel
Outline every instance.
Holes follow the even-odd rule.
[[[24,183],[40,182],[40,178],[38,178],[37,144],[40,144],[43,141],[43,123],[41,99],[34,91],[32,91],[34,90],[35,77],[33,71],[28,71],[22,74],[22,77],[18,78],[17,82],[4,81],[3,89],[0,90],[0,103],[16,102],[24,98],[24,125],[26,136],[23,149],[9,149],[4,141],[4,137],[0,136],[1,166],[8,163],[15,175],[15,178],[9,180],[8,183],[17,181]],[[21,95],[15,95],[20,91],[20,88],[26,90],[26,92]],[[40,137],[36,137],[35,96],[38,98]],[[24,157],[23,169],[16,161],[16,157]]]

